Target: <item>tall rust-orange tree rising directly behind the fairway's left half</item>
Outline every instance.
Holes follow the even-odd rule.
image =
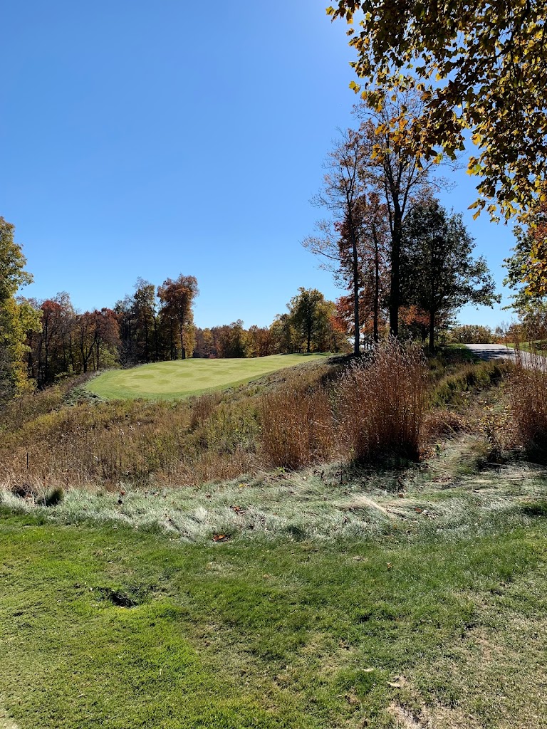
[[[186,359],[192,356],[195,347],[195,326],[193,302],[198,295],[198,281],[195,276],[166,278],[158,286],[160,299],[160,321],[168,332],[171,359]]]

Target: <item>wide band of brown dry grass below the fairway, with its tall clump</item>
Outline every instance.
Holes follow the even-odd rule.
[[[69,406],[70,394],[52,389],[0,417],[0,485],[187,486],[331,458],[416,456],[425,398],[419,352],[387,343],[344,372],[303,367],[179,402],[69,397]]]

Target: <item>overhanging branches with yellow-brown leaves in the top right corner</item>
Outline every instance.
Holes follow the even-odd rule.
[[[354,15],[362,12],[360,30]],[[349,23],[350,86],[373,108],[402,87],[424,100],[416,122],[424,157],[478,147],[468,172],[481,176],[477,213],[497,203],[506,217],[537,198],[547,163],[546,0],[338,0]]]

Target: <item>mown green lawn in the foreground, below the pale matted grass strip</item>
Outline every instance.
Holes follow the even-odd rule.
[[[0,727],[546,727],[546,519],[431,531],[189,544],[0,510]]]

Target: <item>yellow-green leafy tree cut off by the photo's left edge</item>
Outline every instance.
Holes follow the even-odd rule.
[[[39,314],[25,300],[15,299],[32,276],[14,233],[15,226],[0,217],[0,402],[25,388],[26,334],[39,328]]]

